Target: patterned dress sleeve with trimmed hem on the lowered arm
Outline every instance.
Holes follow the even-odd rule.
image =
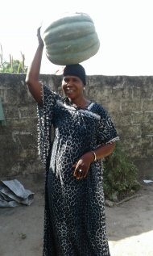
[[[102,108],[101,109],[101,119],[99,121],[99,127],[97,131],[97,145],[105,145],[108,143],[113,143],[119,141],[118,133],[112,122],[108,112]]]

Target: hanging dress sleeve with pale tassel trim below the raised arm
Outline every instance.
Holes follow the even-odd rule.
[[[38,115],[38,149],[44,164],[52,149],[52,120],[57,100],[62,97],[48,86],[42,86],[43,104],[37,105]]]

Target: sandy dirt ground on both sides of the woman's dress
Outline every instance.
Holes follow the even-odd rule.
[[[0,209],[0,256],[42,256],[43,175],[15,178],[35,192],[34,202]],[[106,206],[105,214],[111,256],[153,255],[153,183],[143,184],[133,199]]]

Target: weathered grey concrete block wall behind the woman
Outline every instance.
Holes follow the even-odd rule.
[[[61,92],[61,77],[40,75]],[[112,116],[126,152],[141,176],[153,175],[153,77],[88,76],[85,93]],[[0,73],[6,126],[0,125],[0,175],[43,172],[37,153],[36,103],[24,74]]]

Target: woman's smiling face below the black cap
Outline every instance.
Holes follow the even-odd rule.
[[[84,84],[78,77],[65,76],[62,81],[62,88],[69,99],[77,99],[83,96]]]

